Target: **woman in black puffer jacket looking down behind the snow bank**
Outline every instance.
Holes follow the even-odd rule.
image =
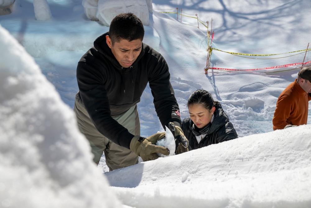
[[[194,91],[187,106],[190,117],[183,119],[182,130],[189,140],[189,150],[238,138],[221,104],[206,90]]]

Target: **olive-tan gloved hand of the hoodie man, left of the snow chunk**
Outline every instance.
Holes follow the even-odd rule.
[[[157,152],[169,155],[168,148],[156,145],[156,142],[163,137],[165,137],[165,132],[156,133],[147,138],[135,136],[131,140],[130,150],[140,156],[143,161],[155,160],[159,158]]]

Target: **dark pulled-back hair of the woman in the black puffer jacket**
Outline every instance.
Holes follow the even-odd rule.
[[[204,89],[198,89],[190,95],[187,107],[193,104],[202,105],[208,110],[211,110],[212,107],[216,107],[216,101],[214,101],[211,94]]]

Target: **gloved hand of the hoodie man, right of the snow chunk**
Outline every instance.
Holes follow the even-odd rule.
[[[175,126],[173,122],[169,122],[169,130],[173,133],[176,143],[175,154],[188,152],[189,141],[183,134],[183,130],[179,126]]]

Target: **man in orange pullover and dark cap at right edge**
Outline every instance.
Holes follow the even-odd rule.
[[[273,130],[307,124],[311,100],[311,67],[304,67],[298,78],[280,94],[274,117]]]

